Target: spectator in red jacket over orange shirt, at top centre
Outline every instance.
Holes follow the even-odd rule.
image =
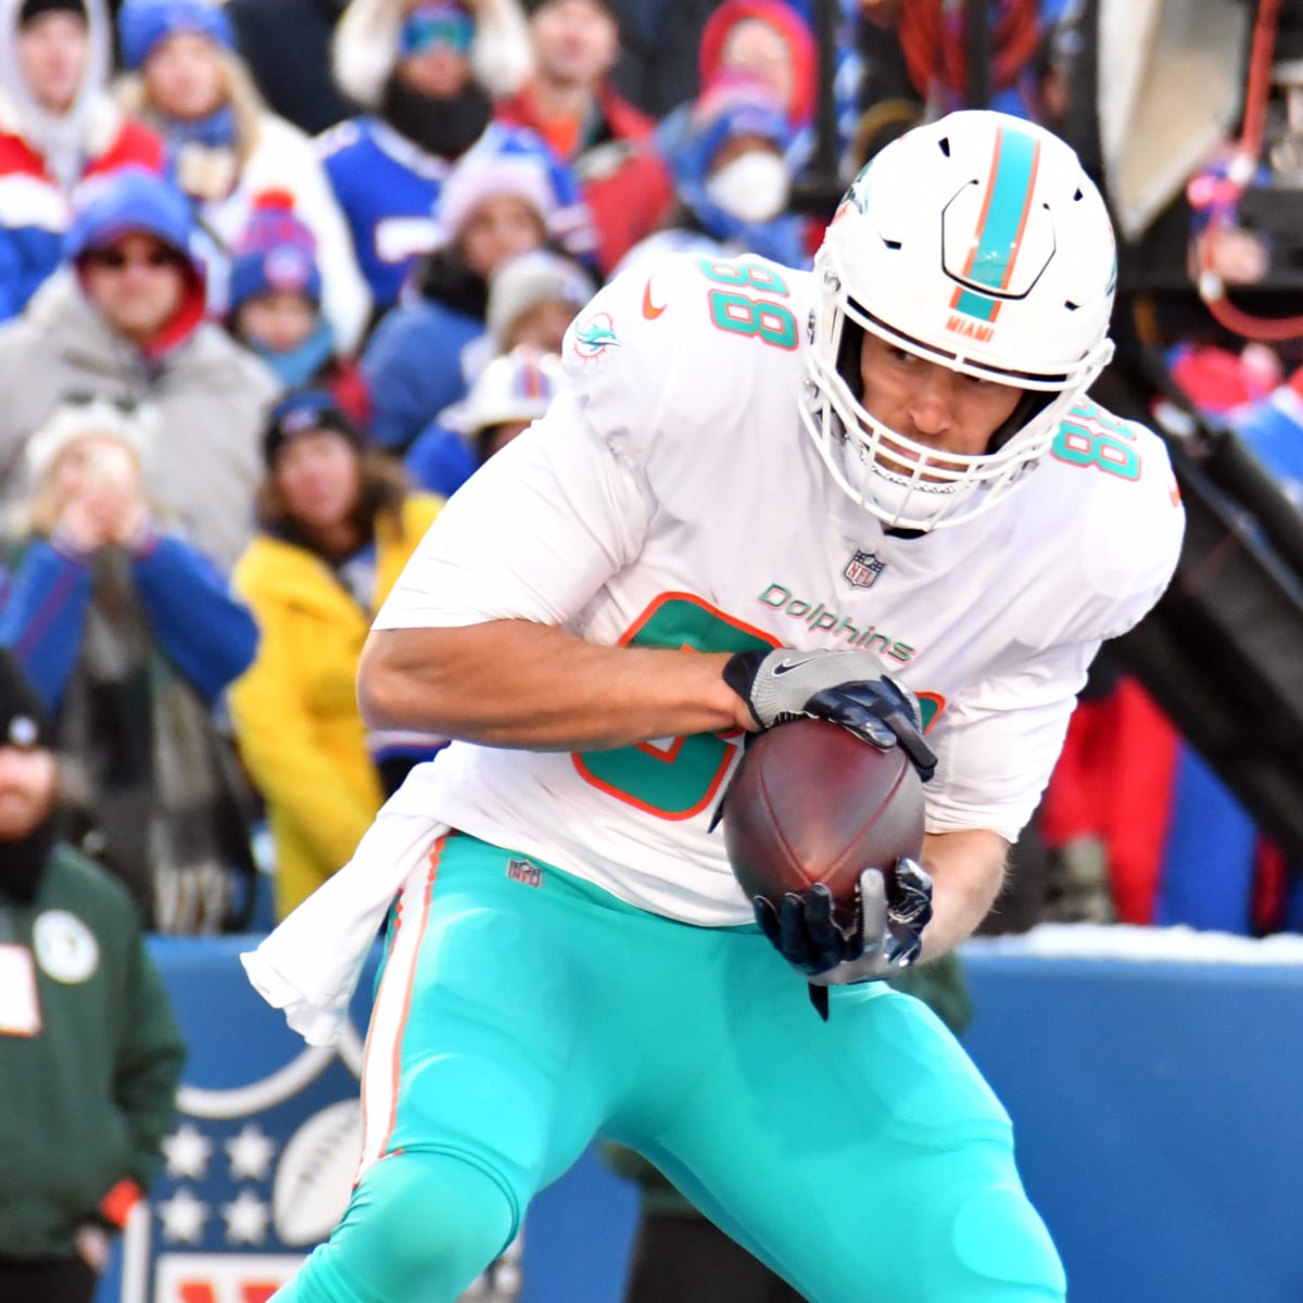
[[[611,86],[620,34],[606,0],[536,0],[529,9],[534,70],[494,116],[533,129],[571,165],[609,274],[657,229],[674,182],[652,141],[655,122]]]

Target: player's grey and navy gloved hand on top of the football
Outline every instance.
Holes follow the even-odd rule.
[[[831,719],[880,751],[899,743],[924,782],[937,767],[919,698],[872,652],[739,652],[723,674],[761,728],[801,715]]]

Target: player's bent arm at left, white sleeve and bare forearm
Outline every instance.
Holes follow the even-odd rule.
[[[485,745],[598,751],[756,727],[726,653],[627,648],[579,632],[585,607],[642,551],[679,345],[642,311],[646,276],[602,291],[572,327],[569,383],[534,429],[440,512],[375,622],[358,671],[373,727]],[[576,339],[580,331],[586,331]],[[662,451],[657,451],[658,447]]]

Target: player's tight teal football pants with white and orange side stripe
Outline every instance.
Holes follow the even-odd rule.
[[[692,928],[453,835],[404,894],[365,1174],[278,1303],[452,1303],[597,1132],[813,1303],[1061,1303],[1009,1118],[882,984],[831,1018],[753,928]]]

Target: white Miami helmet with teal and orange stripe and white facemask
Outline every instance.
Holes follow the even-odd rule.
[[[988,109],[877,154],[814,255],[801,416],[837,482],[889,528],[937,529],[1001,502],[1113,356],[1113,224],[1057,136]],[[1024,391],[980,456],[941,455],[860,401],[870,331]]]

